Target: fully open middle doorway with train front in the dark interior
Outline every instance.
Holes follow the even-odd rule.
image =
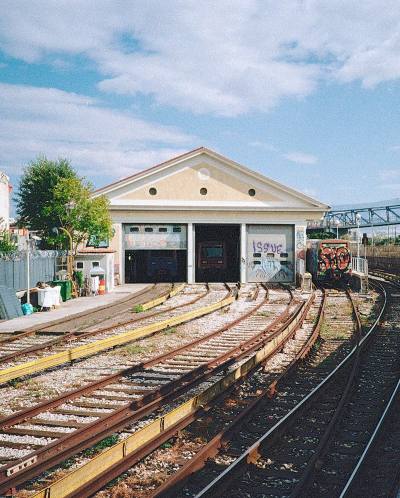
[[[240,280],[240,226],[196,225],[196,282]]]

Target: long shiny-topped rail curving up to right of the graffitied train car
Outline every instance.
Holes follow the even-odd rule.
[[[291,421],[302,409],[305,409],[308,403],[310,403],[314,398],[322,392],[328,384],[333,381],[338,373],[342,372],[342,369],[348,365],[350,360],[353,359],[355,355],[358,354],[359,348],[362,347],[365,342],[372,336],[372,333],[376,329],[380,319],[386,309],[387,297],[384,291],[384,304],[380,310],[377,319],[374,321],[373,325],[370,327],[369,331],[359,340],[359,342],[352,348],[348,355],[307,395],[305,396],[290,412],[288,412],[284,417],[282,417],[273,427],[271,427],[267,432],[265,432],[255,443],[253,443],[245,452],[243,452],[234,462],[232,462],[223,472],[221,472],[215,479],[208,483],[197,495],[196,498],[203,496],[219,496],[217,493],[222,488],[226,487],[226,481],[233,478],[233,474],[241,466],[245,466],[252,457],[258,455],[258,448],[262,444],[265,444],[268,440],[276,436],[277,433],[282,432],[284,427]]]

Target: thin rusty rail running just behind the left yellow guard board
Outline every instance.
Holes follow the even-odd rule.
[[[161,315],[163,313],[167,313],[169,311],[177,310],[177,309],[183,308],[185,306],[190,306],[190,305],[196,303],[197,301],[199,301],[200,299],[202,299],[203,297],[205,297],[210,292],[210,287],[208,286],[208,284],[206,284],[206,289],[207,289],[206,292],[199,294],[198,296],[196,296],[191,301],[188,301],[187,303],[182,303],[182,304],[179,304],[177,306],[171,306],[170,308],[167,308],[167,309],[154,311],[154,312],[148,313],[144,316],[137,316],[137,317],[132,318],[130,320],[125,320],[123,322],[118,322],[118,323],[115,323],[113,325],[99,328],[99,329],[95,329],[95,330],[90,330],[88,332],[81,332],[80,330],[74,331],[74,332],[69,332],[69,333],[63,334],[61,337],[57,337],[56,339],[52,339],[52,340],[44,342],[44,343],[42,342],[42,343],[39,343],[39,344],[36,344],[33,346],[29,346],[25,349],[19,349],[17,351],[10,353],[7,356],[0,356],[0,360],[2,363],[6,363],[8,361],[13,361],[13,360],[20,358],[21,356],[24,356],[24,355],[29,354],[29,353],[38,353],[39,351],[44,351],[46,349],[52,348],[53,346],[73,342],[75,340],[86,339],[86,337],[91,337],[93,335],[102,334],[104,332],[109,332],[110,330],[113,330],[113,329],[116,329],[119,327],[123,327],[125,325],[131,325],[133,323],[137,323],[137,322],[146,320],[147,318],[153,318],[155,316],[159,316],[159,315]],[[166,296],[166,299],[164,299],[165,296]],[[161,298],[163,299],[162,303],[164,303],[170,297],[172,297],[171,291],[168,291],[167,293],[164,293],[163,296],[160,296],[160,298],[156,298],[156,299],[153,299],[152,301],[149,301],[149,303],[152,303],[153,301],[158,301]],[[159,304],[162,304],[162,303],[161,302],[157,303],[154,305],[154,307],[158,306]],[[144,303],[144,305],[146,305],[146,304],[147,303]],[[153,308],[152,304],[150,307],[148,307],[146,309],[151,309],[151,308]],[[93,325],[90,325],[90,327],[93,327]],[[41,331],[42,330],[43,329],[41,329]]]

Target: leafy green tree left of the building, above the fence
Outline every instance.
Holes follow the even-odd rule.
[[[66,159],[49,161],[39,157],[30,163],[21,178],[16,196],[19,223],[38,230],[49,246],[62,242],[73,252],[89,238],[95,241],[112,236],[108,199],[91,197],[92,185],[80,178]],[[63,229],[56,236],[53,229]],[[66,233],[68,235],[66,235]]]

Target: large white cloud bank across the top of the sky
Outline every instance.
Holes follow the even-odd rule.
[[[237,116],[321,81],[400,77],[400,3],[386,0],[2,2],[0,47],[38,62],[80,55],[103,91]]]

